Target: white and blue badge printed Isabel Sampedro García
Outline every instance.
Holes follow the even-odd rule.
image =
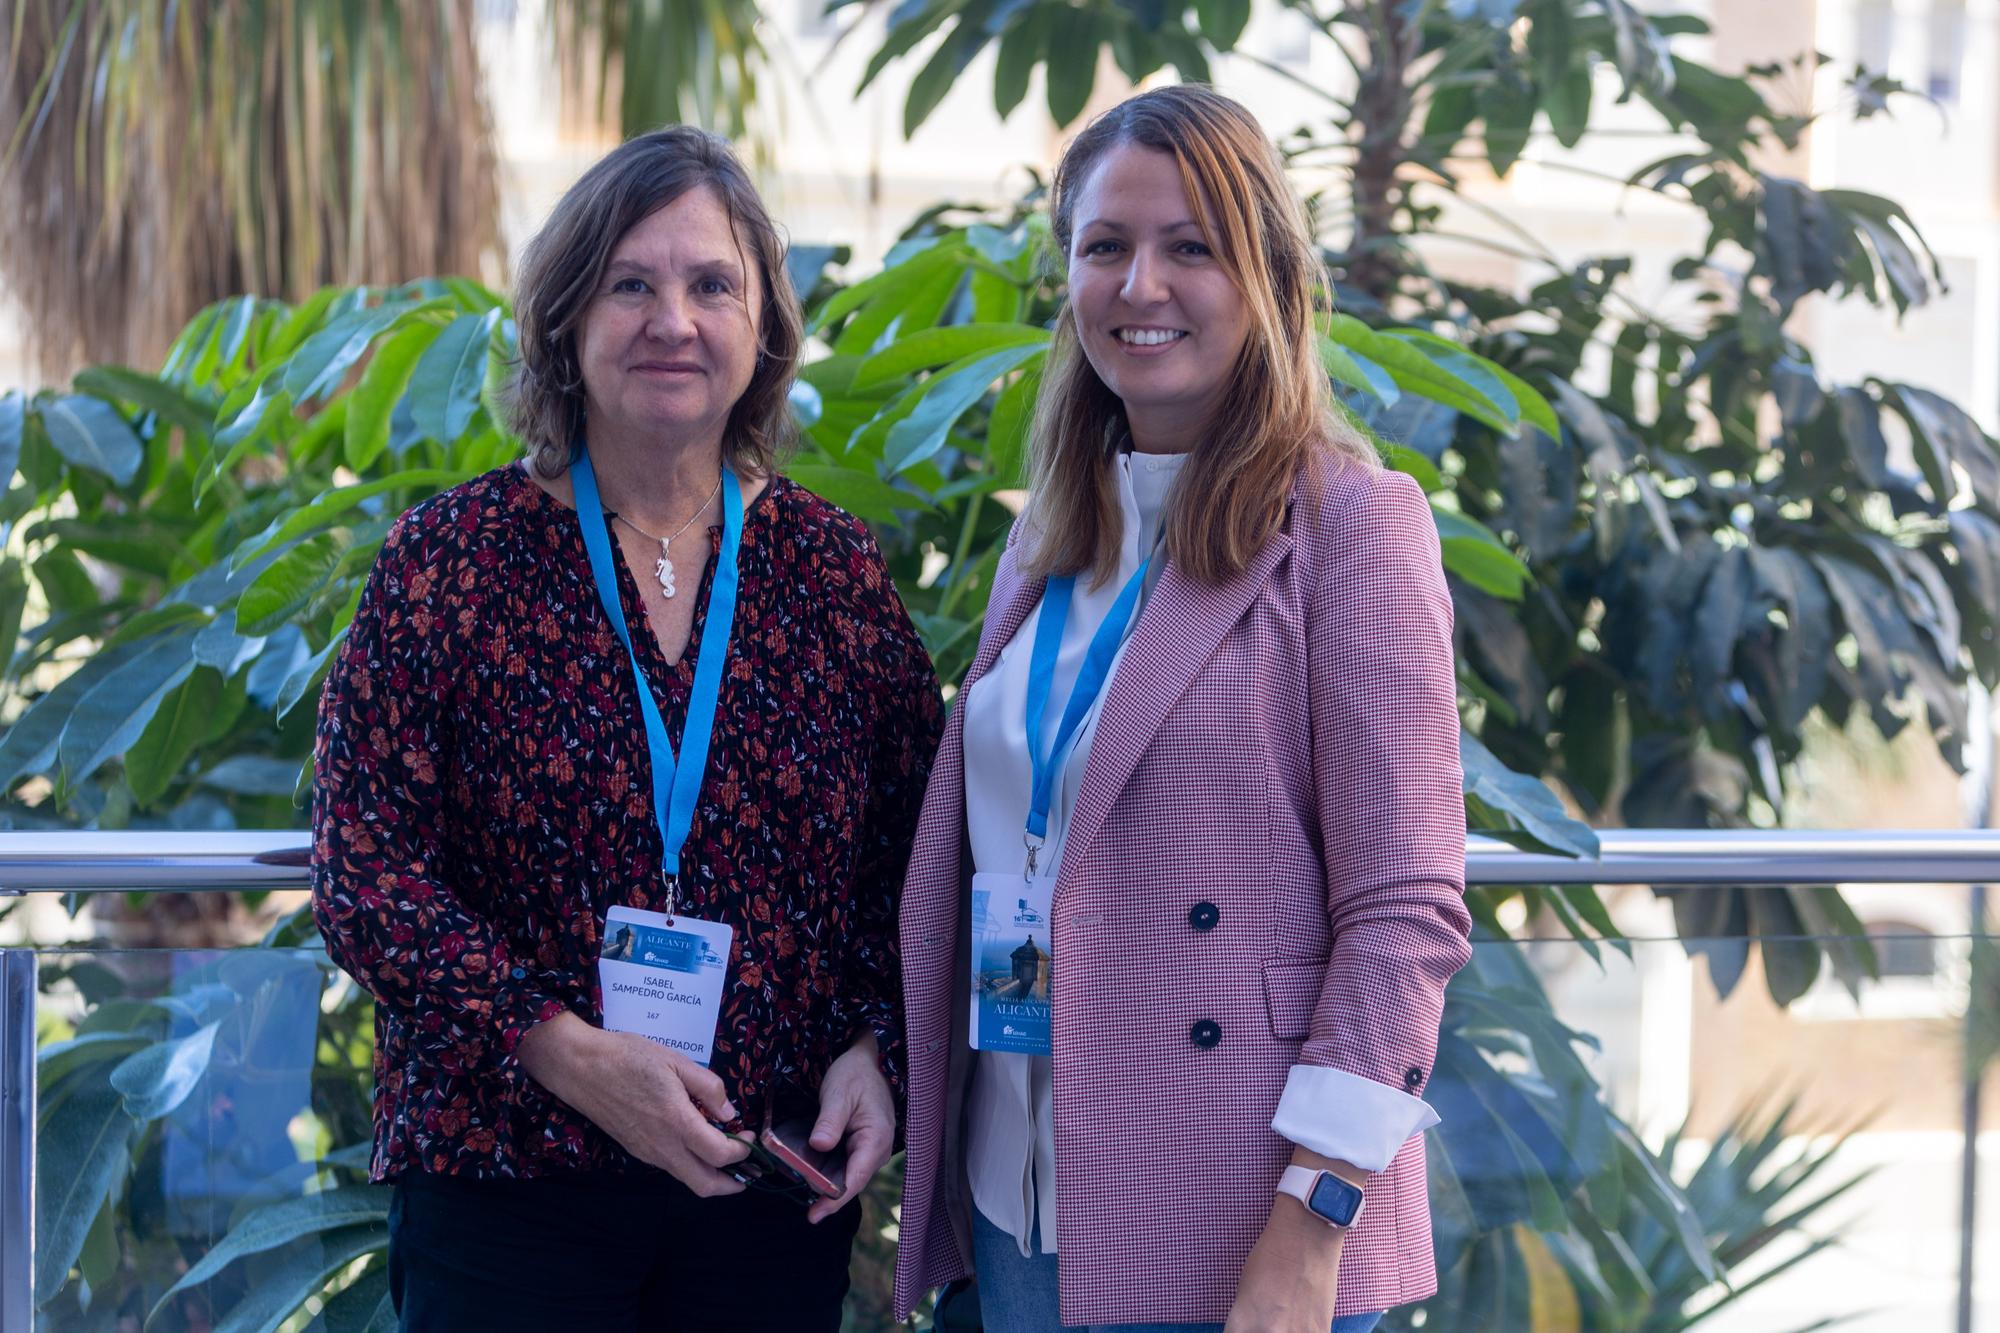
[[[614,907],[598,955],[604,1031],[638,1033],[706,1065],[722,1017],[730,935],[718,921]]]

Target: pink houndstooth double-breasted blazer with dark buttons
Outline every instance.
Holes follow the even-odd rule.
[[[1040,594],[1010,548],[968,683]],[[972,1253],[962,737],[954,711],[902,899],[898,1315]],[[1228,1317],[1292,1155],[1270,1129],[1290,1067],[1422,1093],[1444,983],[1470,957],[1462,893],[1436,526],[1408,476],[1330,468],[1242,576],[1170,564],[1108,685],[1052,923],[1064,1323]],[[1368,1185],[1338,1313],[1434,1289],[1414,1137]]]

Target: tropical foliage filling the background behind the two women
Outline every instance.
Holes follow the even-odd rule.
[[[1626,0],[1298,8],[1354,64],[1324,120],[1284,138],[1344,168],[1346,196],[1314,200],[1334,220],[1320,350],[1346,410],[1432,494],[1474,827],[1588,855],[1590,825],[1772,825],[1808,719],[1856,711],[1886,735],[1918,725],[1956,759],[1966,683],[2000,677],[2000,454],[1946,398],[1828,382],[1788,334],[1806,302],[1892,318],[1938,276],[1894,202],[1760,168],[1806,126],[1772,100],[1788,70],[1708,68],[1686,54],[1696,20]],[[754,6],[566,14],[552,42],[584,106],[616,106],[628,128],[756,130],[750,88],[772,72]],[[388,522],[518,456],[492,410],[514,328],[478,280],[496,276],[478,202],[490,172],[450,202],[426,174],[488,170],[482,118],[380,102],[408,84],[476,106],[468,16],[468,0],[0,2],[12,68],[34,74],[0,84],[0,178],[10,198],[78,200],[28,218],[44,248],[36,232],[0,240],[0,272],[54,312],[52,364],[74,366],[78,348],[94,362],[64,388],[0,396],[10,827],[296,825],[310,703]],[[1040,70],[1070,122],[1102,68],[1206,76],[1246,16],[1244,0],[910,0],[870,78],[916,68],[914,128],[996,46],[996,108]],[[1616,252],[1564,264],[1518,236],[1546,258],[1530,292],[1424,264],[1466,172],[1506,174],[1530,138],[1592,132],[1600,76],[1686,134],[1632,188],[1706,222],[1674,270],[1698,294],[1674,308],[1696,318],[1648,314]],[[1898,92],[1856,74],[1842,114]],[[134,108],[152,100],[188,108],[196,132],[138,132]],[[436,248],[398,248],[422,236]],[[940,204],[872,272],[832,246],[792,254],[816,342],[790,470],[876,528],[948,681],[978,636],[1060,300],[1044,236],[1028,196]],[[176,244],[220,258],[176,266],[162,258]],[[188,286],[142,282],[168,270]],[[412,280],[452,270],[472,276]],[[162,352],[96,296],[142,286],[178,328]],[[1826,1151],[1784,1149],[1782,1107],[1746,1109],[1696,1165],[1672,1137],[1648,1145],[1604,1105],[1592,1039],[1554,1019],[1506,927],[1526,909],[1578,949],[1630,949],[1598,895],[1482,891],[1474,907],[1482,943],[1448,997],[1430,1093],[1444,1287],[1396,1327],[1678,1329],[1736,1299],[1764,1247],[1846,1187],[1828,1183]],[[1702,893],[1674,911],[1724,993],[1752,953],[1782,1003],[1826,965],[1850,983],[1872,969],[1826,887]],[[50,961],[80,1001],[42,1051],[42,1177],[62,1181],[38,1201],[52,1327],[156,1307],[154,1327],[380,1321],[386,1203],[354,1153],[368,1009],[296,949],[308,935],[288,919],[272,949],[158,975]],[[272,1033],[294,1035],[302,1067],[284,1085],[308,1111],[284,1117],[292,1157],[244,1161],[222,1215],[190,1229],[164,1203],[174,1145],[214,1151],[218,1101],[264,1105],[242,1079],[278,1059]],[[886,1197],[858,1329],[886,1323]],[[190,1237],[224,1231],[202,1259]]]

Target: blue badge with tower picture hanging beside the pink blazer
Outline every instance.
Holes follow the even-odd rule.
[[[1056,877],[972,877],[972,1045],[1048,1055]]]

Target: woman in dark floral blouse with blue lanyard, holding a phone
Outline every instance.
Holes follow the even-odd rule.
[[[722,140],[590,168],[516,316],[530,460],[404,514],[320,703],[314,913],[376,999],[400,1323],[838,1329],[938,683],[866,528],[776,472],[800,316]],[[724,941],[706,1065],[606,1025],[614,911]],[[746,1189],[778,1089],[838,1197]]]

